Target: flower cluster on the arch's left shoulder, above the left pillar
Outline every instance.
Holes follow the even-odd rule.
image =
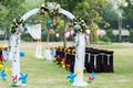
[[[11,24],[11,33],[22,33],[24,31],[24,23],[20,15],[14,18]]]

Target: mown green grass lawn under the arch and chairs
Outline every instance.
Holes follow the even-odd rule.
[[[1,44],[1,43],[0,43]],[[53,46],[63,43],[52,43]],[[69,43],[71,44],[71,43]],[[43,43],[44,52],[47,44]],[[133,88],[133,44],[110,44],[96,45],[96,48],[114,51],[114,73],[99,73],[96,79],[86,88]],[[66,80],[68,72],[55,65],[53,62],[34,58],[35,43],[22,42],[21,51],[25,56],[21,58],[21,72],[29,74],[25,87],[20,88],[73,88]],[[7,63],[11,66],[11,62]],[[88,80],[90,74],[84,74],[84,80]],[[7,80],[0,78],[0,88],[10,88],[11,73]],[[3,87],[4,86],[4,87]]]

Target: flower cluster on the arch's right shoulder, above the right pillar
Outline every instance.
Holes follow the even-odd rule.
[[[82,33],[85,33],[85,30],[88,29],[85,22],[81,18],[73,19],[73,28],[75,32]]]

